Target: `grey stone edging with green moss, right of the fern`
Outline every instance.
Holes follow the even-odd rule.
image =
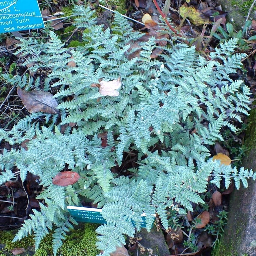
[[[256,111],[251,111],[245,145],[244,167],[256,171]],[[231,193],[228,223],[214,256],[256,256],[256,181]]]

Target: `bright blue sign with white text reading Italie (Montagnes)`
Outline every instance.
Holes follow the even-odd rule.
[[[0,33],[43,27],[37,0],[0,0]]]

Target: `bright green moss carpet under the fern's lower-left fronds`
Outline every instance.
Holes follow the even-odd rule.
[[[96,228],[96,224],[85,223],[71,230],[58,250],[57,256],[96,256],[99,253],[96,248]],[[20,254],[21,256],[53,256],[51,234],[42,240],[39,249],[35,252],[33,236],[12,242],[15,233],[16,231],[0,231],[0,256],[13,256],[10,250],[14,248],[27,249]]]

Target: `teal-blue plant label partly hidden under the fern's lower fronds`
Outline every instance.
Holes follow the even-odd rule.
[[[67,209],[77,222],[106,224],[106,220],[101,215],[102,209],[79,206],[68,206]],[[141,216],[143,219],[141,227],[146,228],[146,215],[142,214]]]

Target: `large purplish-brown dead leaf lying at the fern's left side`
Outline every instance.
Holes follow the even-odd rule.
[[[27,92],[18,87],[17,94],[25,108],[31,113],[42,111],[50,114],[59,114],[56,109],[58,103],[49,92],[38,90]]]

